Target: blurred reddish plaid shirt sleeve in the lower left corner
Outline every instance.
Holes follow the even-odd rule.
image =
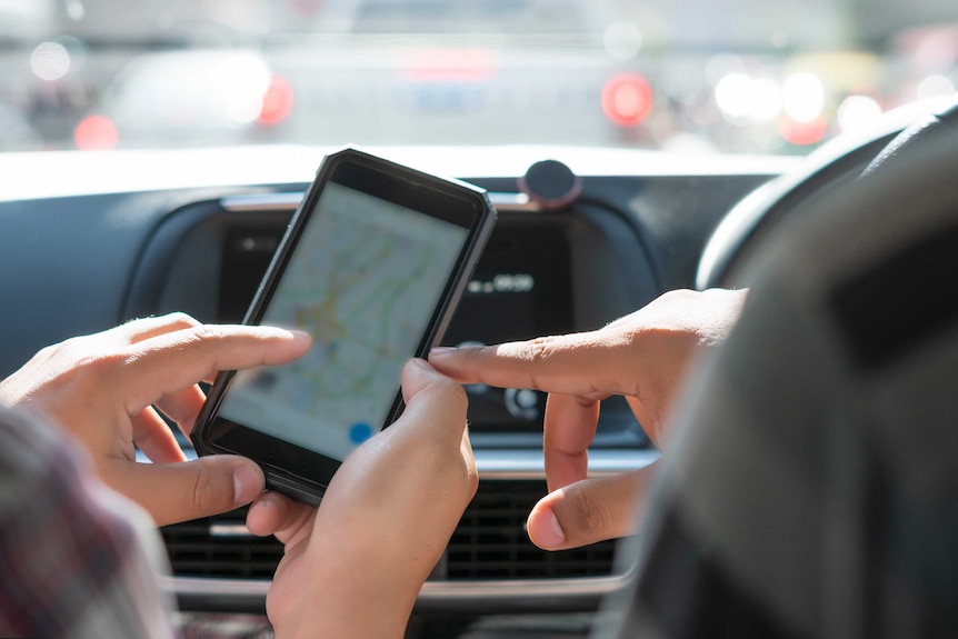
[[[0,411],[0,636],[170,637],[149,517],[54,428]]]

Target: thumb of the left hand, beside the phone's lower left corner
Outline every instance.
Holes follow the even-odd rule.
[[[259,466],[230,455],[174,463],[110,460],[100,470],[107,485],[146,508],[157,526],[233,510],[265,487]]]

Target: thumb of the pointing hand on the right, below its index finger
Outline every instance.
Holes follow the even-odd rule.
[[[583,479],[550,492],[529,513],[529,539],[543,550],[565,550],[633,533],[651,471]]]

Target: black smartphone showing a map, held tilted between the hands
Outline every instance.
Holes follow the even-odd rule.
[[[442,339],[496,222],[485,190],[345,148],[323,158],[245,323],[296,328],[285,366],[220,373],[191,439],[257,461],[318,503],[343,459],[392,423],[400,371]]]

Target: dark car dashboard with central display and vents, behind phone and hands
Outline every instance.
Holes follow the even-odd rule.
[[[498,210],[449,345],[596,329],[667,290],[695,288],[726,212],[799,162],[568,147],[369,150],[480,186]],[[0,156],[9,184],[0,188],[0,376],[47,345],[132,318],[186,311],[241,321],[326,151]],[[575,197],[530,187],[528,171],[543,160],[579,180]],[[628,567],[616,561],[615,541],[546,552],[526,536],[526,516],[546,493],[545,397],[467,391],[479,489],[420,592],[409,633],[478,632],[483,620],[518,615],[526,628],[557,615],[588,619],[625,586]],[[603,402],[590,471],[621,472],[656,457],[625,400]],[[262,615],[282,548],[252,537],[241,510],[164,527],[162,537],[172,569],[163,583],[184,616]]]

